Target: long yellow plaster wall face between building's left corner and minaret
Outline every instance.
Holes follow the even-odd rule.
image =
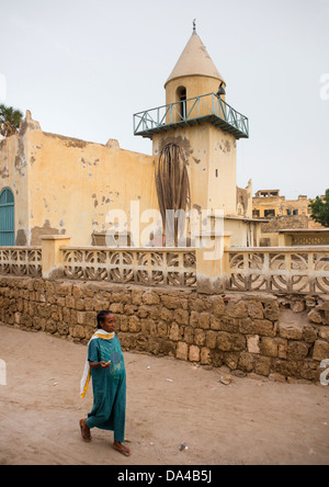
[[[45,227],[71,237],[71,245],[91,245],[104,231],[110,209],[129,218],[131,201],[140,212],[157,208],[154,158],[54,134],[31,137],[30,225],[32,245]],[[146,183],[147,182],[147,183]]]

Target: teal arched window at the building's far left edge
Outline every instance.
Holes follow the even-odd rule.
[[[9,188],[0,193],[0,247],[15,245],[14,195]]]

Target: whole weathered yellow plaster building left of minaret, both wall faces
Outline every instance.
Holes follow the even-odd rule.
[[[20,136],[0,143],[0,191],[9,186],[15,195],[18,245],[65,234],[71,245],[89,246],[93,231],[109,228],[109,211],[123,209],[129,219],[131,201],[139,202],[140,214],[158,208],[151,156],[123,150],[116,140],[44,133],[31,114],[24,124]]]

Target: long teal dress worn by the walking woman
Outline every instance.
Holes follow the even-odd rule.
[[[114,440],[125,441],[126,372],[120,341],[97,338],[89,343],[88,360],[109,362],[109,369],[91,369],[93,407],[87,426],[114,431]]]

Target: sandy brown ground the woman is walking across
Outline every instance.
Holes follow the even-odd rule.
[[[131,352],[124,356],[133,454],[112,449],[112,432],[93,429],[86,443],[86,353],[82,344],[0,326],[0,465],[329,463],[328,387],[238,377],[224,385],[219,370]]]

